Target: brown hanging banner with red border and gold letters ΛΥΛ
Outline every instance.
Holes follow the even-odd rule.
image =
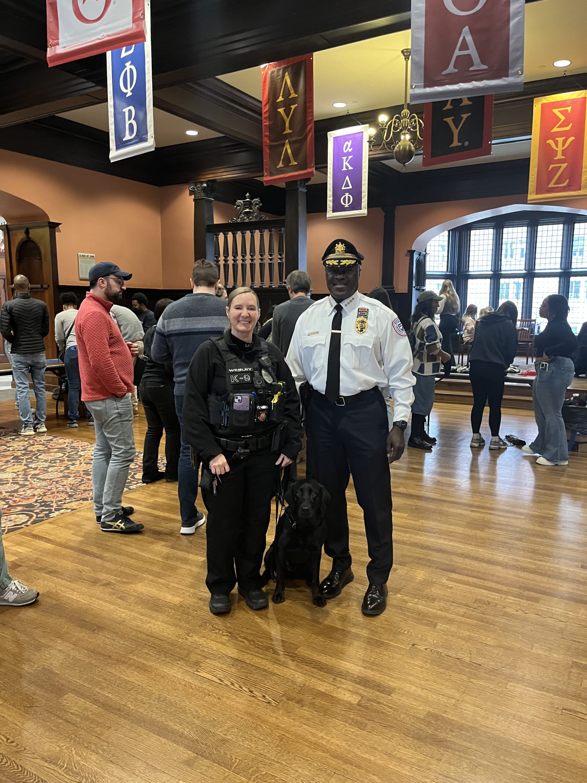
[[[314,56],[261,67],[263,182],[314,176]]]

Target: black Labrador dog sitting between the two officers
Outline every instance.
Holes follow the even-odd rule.
[[[275,528],[275,539],[265,555],[265,571],[261,579],[277,584],[273,590],[274,604],[286,600],[285,580],[305,579],[312,588],[312,603],[326,606],[320,595],[320,559],[326,541],[326,506],[330,495],[313,478],[300,478],[287,489],[287,508]]]

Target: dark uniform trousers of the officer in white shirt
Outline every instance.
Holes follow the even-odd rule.
[[[348,543],[347,500],[353,477],[358,504],[365,518],[371,583],[384,583],[394,562],[391,516],[391,477],[387,461],[387,408],[379,388],[362,399],[336,406],[314,391],[306,414],[308,476],[330,493],[326,511],[324,551],[333,558],[333,568],[351,565]]]

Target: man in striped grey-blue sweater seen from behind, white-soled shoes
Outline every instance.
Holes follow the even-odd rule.
[[[157,323],[151,346],[151,359],[161,364],[173,363],[175,410],[182,429],[179,456],[178,496],[182,516],[181,533],[189,536],[203,525],[204,515],[196,508],[198,471],[192,467],[189,444],[183,428],[183,391],[185,375],[197,348],[211,337],[218,337],[227,327],[226,302],[216,296],[218,271],[211,261],[200,259],[193,266],[190,280],[192,293],[167,305]]]

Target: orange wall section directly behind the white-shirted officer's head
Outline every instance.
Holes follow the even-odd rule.
[[[345,239],[365,256],[362,262],[359,290],[364,294],[381,284],[384,247],[384,212],[379,207],[369,209],[364,218],[326,220],[325,212],[308,215],[308,274],[312,277],[312,293],[326,294],[322,255],[336,239]]]

